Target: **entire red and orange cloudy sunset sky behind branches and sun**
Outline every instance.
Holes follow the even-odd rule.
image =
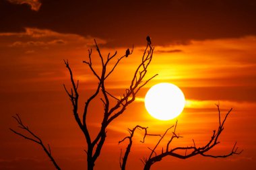
[[[139,124],[162,134],[176,120],[159,121],[150,117],[143,105],[148,88],[156,83],[178,85],[187,99],[177,119],[177,131],[185,138],[174,145],[205,144],[218,127],[222,114],[233,108],[220,144],[213,153],[225,154],[237,141],[241,155],[227,159],[193,157],[163,159],[152,169],[255,169],[256,138],[256,3],[253,1],[0,1],[0,169],[54,169],[34,143],[15,136],[9,128],[11,118],[20,114],[30,129],[51,144],[53,156],[63,169],[86,168],[86,140],[73,119],[71,103],[63,89],[69,74],[68,59],[79,85],[80,106],[97,85],[82,60],[100,67],[93,39],[105,56],[117,50],[125,54],[134,44],[133,55],[125,58],[106,82],[119,96],[129,85],[139,64],[146,36],[152,37],[154,58],[148,77],[158,73],[140,91],[125,114],[108,128],[107,140],[95,169],[119,169],[118,144],[127,128]],[[113,65],[113,63],[110,65]],[[100,100],[90,108],[90,130],[96,132],[101,121]],[[142,169],[139,159],[148,157],[148,146],[135,134],[127,169]],[[163,141],[164,143],[164,141]]]

